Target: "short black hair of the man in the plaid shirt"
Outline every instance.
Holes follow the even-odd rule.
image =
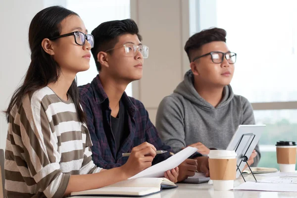
[[[138,39],[142,41],[142,36],[139,34],[137,24],[132,19],[101,23],[91,34],[94,36],[94,48],[92,48],[91,51],[95,58],[98,71],[101,70],[101,64],[97,61],[97,54],[100,51],[114,48],[115,44],[118,42],[119,36],[124,34],[136,34]]]

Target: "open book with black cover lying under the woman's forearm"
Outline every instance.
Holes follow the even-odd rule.
[[[166,178],[136,178],[88,191],[74,192],[71,196],[129,196],[144,197],[177,186]]]

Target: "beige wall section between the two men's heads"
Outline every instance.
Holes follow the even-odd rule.
[[[131,0],[131,18],[149,47],[143,78],[133,82],[133,97],[146,106],[150,120],[160,101],[183,80],[190,63],[184,46],[189,39],[189,0]]]

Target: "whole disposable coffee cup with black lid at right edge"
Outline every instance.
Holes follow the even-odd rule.
[[[276,157],[280,171],[295,173],[297,146],[295,142],[279,141],[276,143]]]

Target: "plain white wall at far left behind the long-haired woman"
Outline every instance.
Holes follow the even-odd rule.
[[[30,64],[28,30],[42,0],[0,0],[0,110],[7,108],[12,93]],[[0,148],[5,148],[7,123],[0,113]]]

